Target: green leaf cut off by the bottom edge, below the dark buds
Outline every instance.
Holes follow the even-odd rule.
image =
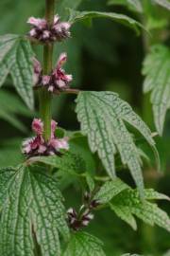
[[[76,232],[62,256],[105,256],[103,243],[86,232]]]

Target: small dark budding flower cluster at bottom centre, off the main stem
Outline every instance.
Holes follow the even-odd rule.
[[[92,199],[92,195],[86,192],[84,195],[84,204],[80,207],[78,212],[73,208],[67,210],[67,221],[69,227],[73,230],[79,230],[87,227],[93,220],[92,210],[94,210],[98,205],[99,203]]]

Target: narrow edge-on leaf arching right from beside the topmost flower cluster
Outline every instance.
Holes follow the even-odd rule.
[[[84,21],[86,19],[93,18],[108,18],[115,22],[126,25],[127,27],[134,28],[139,31],[139,28],[144,28],[143,25],[134,19],[128,17],[127,15],[114,13],[114,12],[101,12],[101,11],[76,11],[74,9],[69,9],[70,18],[69,22],[74,24],[78,21]]]

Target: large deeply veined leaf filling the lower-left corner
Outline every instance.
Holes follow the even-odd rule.
[[[57,182],[37,167],[0,171],[5,173],[0,255],[34,256],[35,247],[42,256],[59,255],[59,232],[68,239],[69,230]]]

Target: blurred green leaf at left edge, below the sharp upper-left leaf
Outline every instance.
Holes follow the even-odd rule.
[[[17,129],[26,132],[26,126],[17,115],[32,117],[32,114],[27,110],[23,102],[15,95],[0,90],[0,119],[4,119]]]

